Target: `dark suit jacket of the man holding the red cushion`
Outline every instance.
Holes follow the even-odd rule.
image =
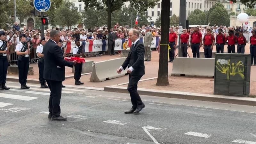
[[[49,40],[43,48],[44,79],[53,81],[65,80],[65,66],[73,67],[74,63],[64,60],[60,47]]]

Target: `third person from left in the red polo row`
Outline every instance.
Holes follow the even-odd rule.
[[[202,46],[202,34],[198,31],[197,27],[194,28],[194,32],[190,36],[191,50],[193,58],[199,58],[199,49]]]

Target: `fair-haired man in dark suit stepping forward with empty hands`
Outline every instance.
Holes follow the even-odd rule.
[[[138,81],[145,74],[144,66],[144,45],[140,42],[140,33],[138,30],[133,29],[129,31],[129,36],[133,42],[131,50],[124,61],[123,65],[117,69],[117,73],[120,74],[127,66],[129,67],[127,73],[129,74],[129,84],[127,90],[130,93],[132,108],[125,111],[125,114],[139,113],[142,108],[145,108],[144,103],[140,99],[140,95],[137,92]]]

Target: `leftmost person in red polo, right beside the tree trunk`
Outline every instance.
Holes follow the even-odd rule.
[[[172,62],[174,60],[175,56],[175,49],[177,45],[177,34],[173,31],[173,28],[170,27],[170,33],[169,33],[169,45],[171,47],[171,51],[169,50],[169,62]]]

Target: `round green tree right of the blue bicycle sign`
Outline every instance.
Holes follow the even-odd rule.
[[[81,19],[78,8],[70,1],[63,1],[55,12],[55,24],[60,26],[73,26]]]

